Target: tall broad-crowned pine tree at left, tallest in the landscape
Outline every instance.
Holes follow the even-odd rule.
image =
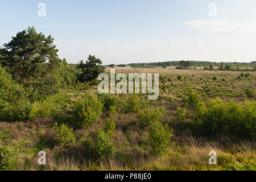
[[[46,69],[51,69],[60,61],[52,36],[37,33],[34,27],[18,32],[3,47],[0,50],[1,64],[20,83],[29,81],[31,77],[42,77],[43,71],[47,73],[47,70],[42,69],[43,63],[47,63]]]

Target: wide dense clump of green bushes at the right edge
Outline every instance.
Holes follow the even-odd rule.
[[[201,123],[202,133],[205,135],[224,134],[240,138],[241,136],[255,137],[255,101],[238,104],[234,100],[225,102],[217,98],[197,107],[196,114],[196,118],[199,118]]]

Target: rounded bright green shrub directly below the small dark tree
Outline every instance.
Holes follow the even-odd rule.
[[[100,119],[103,109],[101,102],[94,96],[86,96],[73,106],[73,117],[81,127],[89,127]]]

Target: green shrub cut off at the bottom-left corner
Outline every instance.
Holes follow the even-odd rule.
[[[18,161],[19,150],[15,146],[0,145],[0,169],[13,170]]]

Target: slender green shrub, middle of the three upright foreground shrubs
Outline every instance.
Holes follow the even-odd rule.
[[[96,139],[94,142],[95,155],[99,159],[107,158],[113,155],[115,147],[110,140],[110,136],[104,130],[98,129],[96,132]]]

